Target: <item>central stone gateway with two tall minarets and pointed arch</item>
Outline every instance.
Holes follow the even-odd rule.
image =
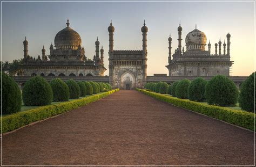
[[[142,50],[113,50],[112,21],[109,31],[109,83],[113,88],[133,89],[143,88],[146,84],[147,68],[147,27],[144,23]]]

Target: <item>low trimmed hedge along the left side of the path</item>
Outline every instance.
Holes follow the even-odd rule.
[[[90,97],[85,97],[82,99],[77,99],[73,101],[67,101],[60,104],[48,105],[43,107],[38,107],[35,109],[31,109],[24,112],[17,112],[10,115],[4,115],[2,117],[2,131],[1,133],[10,132],[11,130],[18,129],[25,125],[28,125],[32,122],[43,120],[49,117],[53,117],[55,115],[64,113],[66,111],[73,110],[80,106],[84,106],[86,104],[92,103],[93,101],[97,101],[100,98],[108,96],[119,89],[111,90],[108,92],[101,93],[99,95],[93,95]]]

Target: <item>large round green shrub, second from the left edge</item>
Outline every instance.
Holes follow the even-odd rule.
[[[22,99],[25,106],[50,105],[53,99],[51,85],[43,77],[30,78],[24,84]]]

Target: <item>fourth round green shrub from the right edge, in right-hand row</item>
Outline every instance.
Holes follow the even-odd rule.
[[[190,86],[191,81],[188,79],[182,79],[176,86],[175,95],[181,99],[187,99],[187,89]]]

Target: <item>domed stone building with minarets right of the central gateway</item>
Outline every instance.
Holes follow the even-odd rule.
[[[169,64],[166,68],[169,70],[169,76],[215,76],[230,75],[230,67],[233,61],[230,61],[230,34],[227,34],[227,54],[226,43],[224,41],[224,51],[221,54],[221,41],[215,43],[215,54],[211,54],[211,43],[208,43],[208,50],[205,50],[206,35],[197,29],[188,33],[186,36],[186,51],[181,49],[181,31],[178,27],[179,47],[171,56],[172,38],[169,37]],[[173,59],[171,59],[173,57]]]

